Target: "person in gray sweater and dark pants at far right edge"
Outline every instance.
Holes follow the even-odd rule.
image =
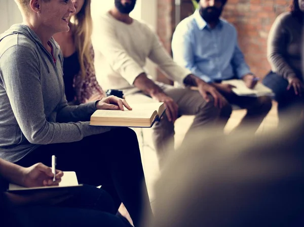
[[[267,52],[272,71],[265,76],[263,84],[275,93],[280,122],[290,108],[298,118],[304,103],[301,64],[303,12],[304,1],[293,0],[291,12],[278,16],[268,37]]]

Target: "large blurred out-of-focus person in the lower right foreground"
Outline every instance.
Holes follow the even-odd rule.
[[[257,137],[192,138],[163,169],[150,226],[304,226],[303,122]]]

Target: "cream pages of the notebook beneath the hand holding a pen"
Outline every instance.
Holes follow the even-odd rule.
[[[75,172],[63,172],[63,176],[61,178],[61,182],[59,186],[46,186],[46,187],[35,187],[35,188],[25,188],[19,185],[10,184],[9,191],[14,190],[31,190],[31,189],[48,189],[48,188],[60,188],[67,186],[78,186],[78,180]]]

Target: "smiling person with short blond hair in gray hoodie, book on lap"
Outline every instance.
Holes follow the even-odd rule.
[[[0,35],[0,158],[24,167],[50,166],[56,155],[58,168],[76,171],[80,183],[102,185],[138,226],[142,206],[149,203],[136,134],[89,125],[96,109],[130,106],[113,96],[69,106],[63,57],[52,36],[69,30],[72,1],[15,1],[23,24]]]

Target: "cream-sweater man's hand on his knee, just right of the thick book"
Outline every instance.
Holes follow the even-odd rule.
[[[153,95],[152,98],[165,104],[168,120],[174,123],[178,117],[178,105],[174,102],[174,100],[165,93],[157,93]]]

